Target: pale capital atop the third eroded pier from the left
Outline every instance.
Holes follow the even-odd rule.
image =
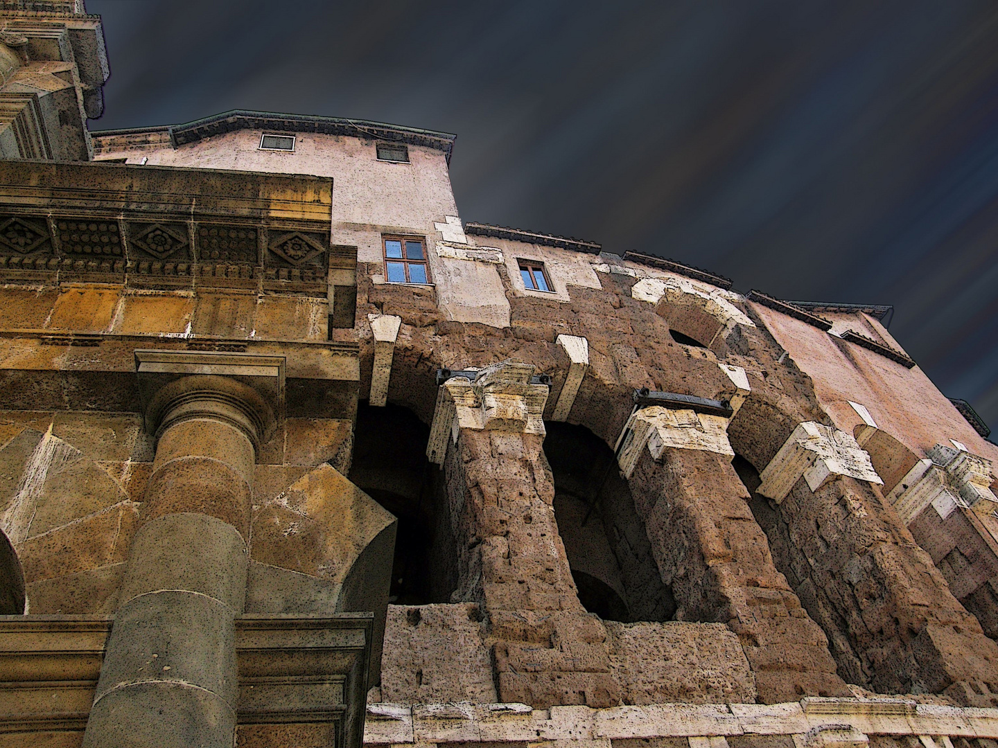
[[[811,491],[833,476],[883,485],[870,456],[851,434],[814,421],[805,421],[793,430],[762,471],[758,493],[779,504],[801,476]]]

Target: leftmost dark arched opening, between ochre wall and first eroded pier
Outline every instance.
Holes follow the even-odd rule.
[[[357,408],[349,480],[398,518],[388,601],[449,602],[456,586],[440,471],[426,459],[429,427],[397,405]]]

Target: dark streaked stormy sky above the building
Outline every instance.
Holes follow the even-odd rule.
[[[465,220],[689,262],[891,332],[998,431],[993,0],[88,0],[94,129],[229,109],[456,133]]]

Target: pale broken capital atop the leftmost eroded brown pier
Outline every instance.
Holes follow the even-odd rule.
[[[544,405],[549,388],[531,384],[534,367],[506,360],[478,371],[474,381],[453,377],[437,393],[433,425],[426,445],[430,462],[443,465],[447,440],[460,429],[514,431],[543,436]]]

